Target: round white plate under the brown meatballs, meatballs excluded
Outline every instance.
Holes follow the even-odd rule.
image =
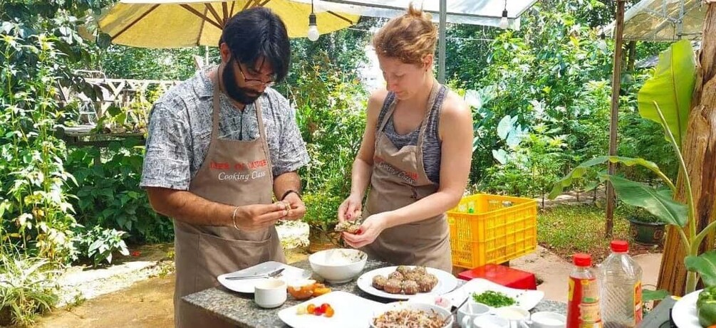
[[[408,265],[406,267],[412,268],[413,266]],[[368,294],[372,294],[377,297],[384,297],[387,299],[411,299],[412,297],[417,297],[419,295],[442,295],[447,292],[450,292],[458,286],[458,278],[455,278],[453,274],[442,271],[440,269],[426,267],[425,269],[427,270],[427,273],[435,274],[435,277],[437,277],[437,285],[435,285],[435,288],[433,288],[430,292],[417,293],[415,295],[390,294],[373,287],[373,277],[377,276],[378,274],[382,274],[385,277],[388,277],[388,274],[394,272],[396,268],[397,267],[384,267],[361,274],[361,276],[358,277],[357,281],[358,288],[362,289],[363,292],[367,292]]]

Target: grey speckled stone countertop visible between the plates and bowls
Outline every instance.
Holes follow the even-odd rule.
[[[368,260],[365,265],[365,268],[363,269],[363,272],[369,272],[373,269],[389,267],[391,265],[392,264],[386,262]],[[293,263],[291,264],[291,266],[311,271],[311,267],[307,259],[301,262]],[[462,280],[458,281],[463,282]],[[364,297],[366,299],[372,299],[377,302],[395,302],[395,299],[384,299],[382,297],[376,297],[372,294],[367,294],[366,292],[363,292],[361,289],[358,288],[355,280],[352,280],[351,282],[347,282],[345,284],[329,284],[328,287],[331,287],[333,291],[349,292],[352,294],[356,294],[360,297]],[[276,309],[263,309],[261,307],[258,307],[253,302],[253,294],[241,294],[237,292],[232,292],[231,290],[228,290],[221,286],[205,289],[201,292],[187,295],[183,297],[183,300],[185,302],[195,305],[196,307],[205,309],[206,311],[211,312],[211,314],[225,319],[227,322],[236,324],[238,325],[238,327],[248,328],[289,327],[286,326],[286,324],[284,324],[281,319],[279,319],[279,311],[281,311],[281,309],[293,307],[296,304],[304,302],[304,300],[298,301],[296,299],[293,299],[289,295],[288,299],[286,299],[286,303],[284,303],[284,305],[282,305],[281,307],[277,307]],[[543,300],[539,302],[534,309],[532,309],[532,312],[540,311],[552,311],[564,314],[566,313],[566,304],[564,304],[563,302]],[[458,324],[455,324],[454,327],[458,327]]]

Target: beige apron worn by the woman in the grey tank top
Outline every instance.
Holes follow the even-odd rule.
[[[439,187],[430,181],[422,161],[422,144],[430,112],[435,104],[440,84],[432,84],[425,117],[420,125],[416,146],[397,149],[383,129],[395,111],[397,99],[378,124],[373,158],[373,173],[364,217],[392,211],[410,205],[437,192]],[[363,248],[369,257],[392,264],[422,265],[452,272],[450,255],[450,227],[445,214],[420,222],[402,224],[383,230],[372,244]]]

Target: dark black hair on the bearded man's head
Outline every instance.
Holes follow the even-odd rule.
[[[276,81],[282,81],[289,73],[289,34],[284,21],[271,9],[253,7],[231,17],[221,33],[219,46],[222,43],[241,64],[254,67],[259,59],[269,61]]]

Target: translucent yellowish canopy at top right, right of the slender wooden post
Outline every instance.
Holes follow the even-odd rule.
[[[624,39],[701,39],[707,7],[702,0],[642,0],[624,13]],[[607,31],[613,31],[612,23]]]

